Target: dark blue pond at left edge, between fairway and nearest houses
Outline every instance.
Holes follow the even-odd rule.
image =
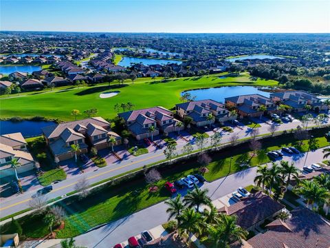
[[[24,138],[39,136],[42,127],[54,124],[53,121],[0,121],[0,134],[21,132]]]

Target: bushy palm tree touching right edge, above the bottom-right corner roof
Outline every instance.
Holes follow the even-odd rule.
[[[314,203],[324,202],[329,197],[327,189],[313,180],[302,180],[297,192],[307,200],[307,208],[311,208]]]

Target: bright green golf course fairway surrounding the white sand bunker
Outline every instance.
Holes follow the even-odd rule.
[[[116,103],[131,102],[135,105],[135,109],[157,105],[170,109],[179,103],[179,96],[184,90],[233,85],[277,85],[276,81],[271,80],[250,81],[248,74],[225,79],[219,79],[219,75],[180,78],[168,80],[166,83],[163,83],[161,79],[153,81],[149,78],[143,78],[137,79],[134,84],[127,80],[124,85],[120,86],[117,82],[113,82],[111,87],[108,87],[107,83],[103,83],[80,88],[60,87],[55,88],[52,92],[50,90],[25,92],[21,93],[19,97],[12,97],[16,96],[15,94],[10,95],[11,98],[0,96],[0,116],[1,118],[45,116],[45,118],[73,121],[74,117],[70,115],[72,110],[77,109],[83,112],[96,107],[98,115],[104,118],[113,118],[117,114],[113,111]],[[100,93],[111,90],[118,90],[120,93],[107,99],[100,99]],[[43,94],[44,92],[47,94]],[[54,103],[56,103],[56,107],[54,107]],[[79,118],[85,118],[85,116],[80,115]]]

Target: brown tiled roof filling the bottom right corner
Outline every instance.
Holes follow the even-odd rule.
[[[322,216],[302,208],[291,211],[291,218],[274,220],[268,231],[248,240],[253,248],[329,248],[330,225]]]

